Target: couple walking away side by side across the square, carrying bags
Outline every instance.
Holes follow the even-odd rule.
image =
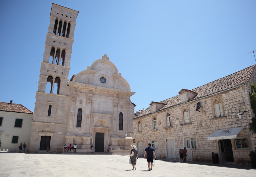
[[[147,155],[148,171],[151,171],[152,167],[153,167],[153,159],[156,159],[155,151],[154,151],[154,148],[151,147],[151,143],[148,143],[148,147],[146,147],[146,149],[145,149],[144,159],[146,158],[146,155]],[[135,145],[133,145],[132,150],[130,152],[132,170],[136,170],[136,163],[137,163],[138,158],[139,158],[139,156],[138,156],[137,148]]]

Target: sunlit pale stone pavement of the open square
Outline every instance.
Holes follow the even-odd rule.
[[[248,166],[203,162],[156,160],[148,171],[147,161],[137,159],[132,170],[128,155],[0,153],[0,176],[255,176]]]

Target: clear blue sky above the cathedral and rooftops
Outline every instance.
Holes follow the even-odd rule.
[[[256,64],[254,0],[2,0],[1,102],[34,112],[52,3],[79,11],[69,79],[107,54],[135,112]]]

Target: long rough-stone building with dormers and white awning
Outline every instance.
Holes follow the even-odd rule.
[[[151,102],[134,118],[139,154],[151,142],[159,158],[177,160],[179,148],[187,147],[188,161],[212,161],[214,152],[221,162],[247,163],[249,152],[256,147],[255,134],[249,131],[254,116],[250,83],[256,84],[255,65]]]

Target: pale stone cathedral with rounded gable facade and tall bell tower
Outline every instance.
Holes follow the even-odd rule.
[[[28,151],[127,152],[133,144],[129,83],[105,54],[68,80],[78,11],[52,4]],[[73,59],[75,60],[75,59]]]

